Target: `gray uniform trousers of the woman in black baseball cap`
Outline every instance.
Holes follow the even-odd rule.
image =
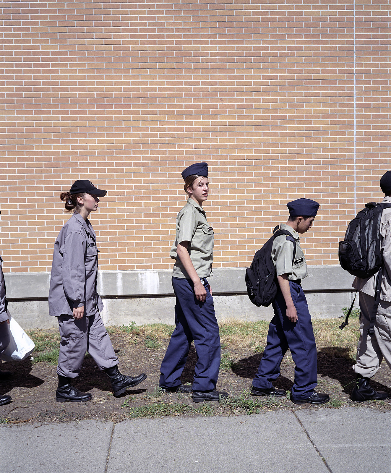
[[[118,365],[118,358],[99,314],[79,320],[72,315],[60,315],[58,324],[61,342],[57,373],[60,376],[78,377],[86,351],[101,371]]]

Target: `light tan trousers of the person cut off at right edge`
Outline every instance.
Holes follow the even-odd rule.
[[[374,307],[374,297],[360,291],[360,338],[357,346],[355,373],[371,378],[384,358],[391,368],[391,303],[380,301],[374,323],[374,335],[367,335],[369,321]]]

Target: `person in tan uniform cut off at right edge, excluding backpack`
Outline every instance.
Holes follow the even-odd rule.
[[[350,399],[357,402],[388,398],[388,394],[384,391],[375,391],[369,384],[369,379],[379,369],[383,358],[391,368],[391,171],[387,171],[382,176],[380,187],[385,195],[380,220],[382,254],[380,300],[375,300],[377,273],[365,279],[356,277],[352,284],[360,291],[361,310],[360,338],[357,345],[356,364],[353,366],[356,373],[356,385],[350,395]],[[373,316],[374,305],[377,302],[379,305]],[[371,325],[373,325],[373,330],[371,330]]]

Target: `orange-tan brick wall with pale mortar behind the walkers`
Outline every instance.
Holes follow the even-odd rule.
[[[180,172],[200,160],[216,267],[246,266],[303,196],[321,202],[308,263],[337,264],[355,196],[379,200],[391,167],[386,3],[4,1],[5,270],[50,270],[78,178],[108,190],[101,269],[170,268]]]

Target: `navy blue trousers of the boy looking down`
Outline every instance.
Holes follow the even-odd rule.
[[[269,325],[266,348],[252,385],[271,388],[272,381],[280,375],[281,361],[289,348],[296,365],[292,396],[300,400],[305,399],[318,384],[316,344],[303,289],[294,281],[289,281],[289,286],[297,311],[297,322],[288,319],[284,297],[278,290],[273,302],[274,317]]]

